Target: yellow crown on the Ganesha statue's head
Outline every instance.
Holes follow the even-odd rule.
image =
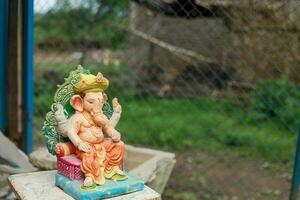
[[[80,81],[73,85],[75,93],[104,92],[109,85],[109,81],[101,74],[80,74]]]

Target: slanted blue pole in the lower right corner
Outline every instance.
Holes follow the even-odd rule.
[[[290,200],[297,200],[298,196],[300,199],[299,193],[299,183],[300,183],[300,126],[299,133],[297,139],[297,147],[296,147],[296,156],[294,162],[294,172],[292,178],[291,192],[290,192]]]

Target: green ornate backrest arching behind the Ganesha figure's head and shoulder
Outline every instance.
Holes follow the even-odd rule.
[[[63,105],[64,114],[67,118],[70,118],[74,114],[75,110],[71,106],[70,100],[71,97],[75,94],[73,91],[73,84],[79,81],[81,73],[90,74],[88,70],[83,69],[81,66],[78,66],[76,70],[71,71],[69,76],[65,79],[65,82],[62,85],[58,86],[54,95],[51,109],[46,114],[43,133],[46,138],[48,151],[53,155],[55,155],[55,145],[57,143],[69,141],[68,138],[64,138],[57,132],[57,122],[55,120],[57,105]]]

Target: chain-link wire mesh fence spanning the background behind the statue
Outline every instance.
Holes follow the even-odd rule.
[[[297,0],[35,0],[35,139],[78,64],[125,142],[174,151],[165,199],[287,199],[300,116]]]

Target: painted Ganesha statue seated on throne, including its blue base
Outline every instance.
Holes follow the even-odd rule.
[[[101,73],[79,66],[58,87],[46,115],[47,147],[58,160],[56,185],[75,199],[107,198],[144,186],[124,171],[125,145],[116,129],[122,107],[114,98],[111,108],[108,86]]]

